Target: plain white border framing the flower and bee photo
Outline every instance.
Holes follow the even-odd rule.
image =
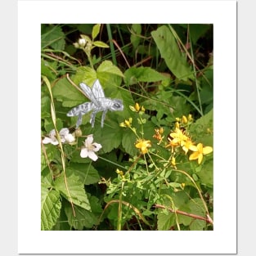
[[[213,23],[214,231],[40,231],[41,23]],[[236,254],[236,1],[18,1],[18,253]]]

